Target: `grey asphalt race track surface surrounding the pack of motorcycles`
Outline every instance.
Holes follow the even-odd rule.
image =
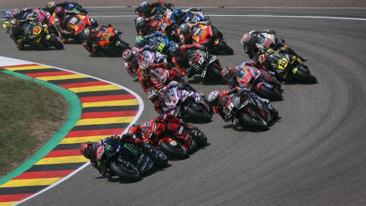
[[[98,24],[112,24],[133,45],[134,8],[89,10]],[[366,8],[203,10],[234,49],[235,55],[217,54],[222,66],[247,60],[239,41],[243,32],[273,28],[308,59],[305,64],[318,83],[284,84],[284,100],[272,103],[280,118],[268,131],[235,129],[218,115],[208,124],[187,119],[208,137],[207,146],[191,151],[190,158],[171,160],[166,169],[135,183],[101,177],[88,166],[21,205],[366,205]],[[130,88],[144,102],[139,123],[157,114],[125,71],[121,55],[89,57],[76,41],[64,50],[27,46],[19,51],[2,29],[0,45],[0,56]],[[223,82],[202,83],[200,77],[188,82],[207,95],[227,88]]]

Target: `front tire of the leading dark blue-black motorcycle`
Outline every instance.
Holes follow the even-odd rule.
[[[136,169],[136,167],[134,167],[131,163],[129,163],[129,165],[129,167],[126,167],[121,162],[112,162],[111,169],[114,174],[125,180],[129,180],[131,182],[137,182],[141,180],[139,170]]]

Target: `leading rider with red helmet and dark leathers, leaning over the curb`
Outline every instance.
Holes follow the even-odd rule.
[[[111,171],[110,169],[105,169],[105,167],[102,167],[100,164],[98,164],[98,160],[96,159],[96,151],[98,150],[98,148],[107,145],[109,141],[132,143],[134,145],[137,145],[138,147],[141,147],[146,155],[155,154],[153,149],[151,149],[151,145],[145,144],[143,142],[141,127],[139,124],[132,124],[132,126],[128,129],[128,132],[124,133],[123,135],[112,135],[96,143],[92,143],[89,141],[82,142],[80,144],[80,154],[89,159],[92,163],[92,166],[95,169],[98,169],[102,176],[105,176],[105,174],[114,175],[113,171]],[[110,153],[111,151],[105,150],[105,152]]]

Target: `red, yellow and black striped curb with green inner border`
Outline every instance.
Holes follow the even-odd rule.
[[[89,165],[81,142],[121,134],[135,122],[141,98],[117,84],[61,68],[0,57],[0,67],[58,91],[70,104],[67,123],[35,156],[0,179],[0,205],[14,205],[46,191]]]

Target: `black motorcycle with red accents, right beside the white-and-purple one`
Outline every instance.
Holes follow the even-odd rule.
[[[254,100],[244,98],[238,93],[229,93],[226,95],[227,104],[223,107],[223,112],[228,119],[234,118],[239,123],[245,123],[250,127],[260,130],[268,129],[268,122],[278,118],[278,111],[274,107]]]

